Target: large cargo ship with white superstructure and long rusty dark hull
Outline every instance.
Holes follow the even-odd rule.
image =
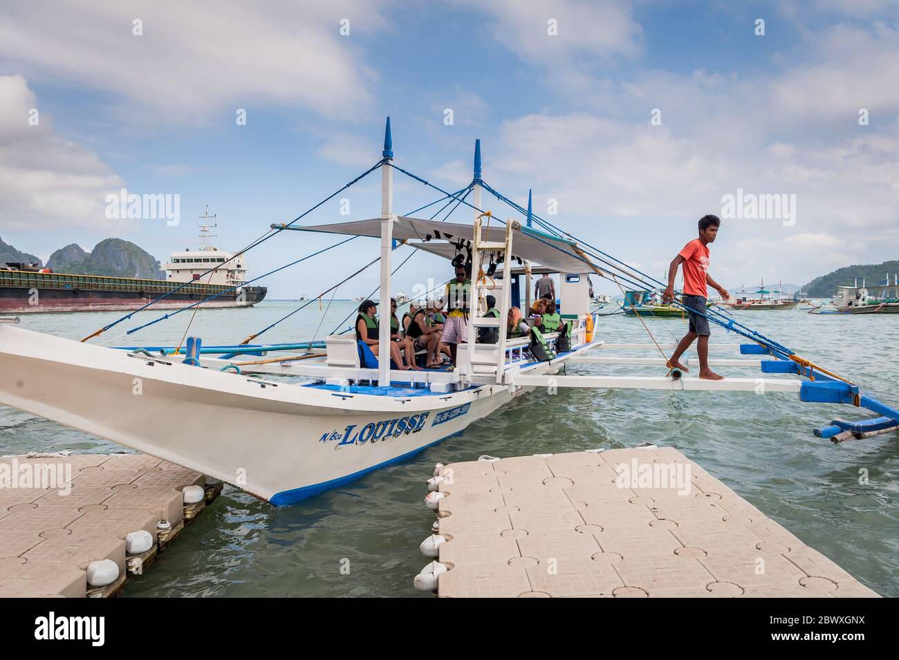
[[[165,279],[138,277],[104,277],[54,273],[38,264],[6,263],[0,266],[0,312],[128,312],[136,310],[161,295],[167,296],[153,309],[170,310],[186,307],[216,296],[203,303],[204,309],[252,307],[265,298],[265,286],[244,286],[244,257],[213,247],[209,233],[217,224],[200,224],[200,248],[173,252],[163,264]],[[204,275],[210,268],[219,268]],[[179,288],[181,287],[181,288]]]

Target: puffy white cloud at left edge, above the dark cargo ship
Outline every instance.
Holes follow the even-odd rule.
[[[0,76],[0,224],[111,226],[104,197],[122,181],[92,151],[58,136],[47,113],[32,126],[29,111],[37,107],[22,76]]]

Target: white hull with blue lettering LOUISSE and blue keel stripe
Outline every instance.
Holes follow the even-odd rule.
[[[0,403],[276,505],[408,458],[512,399],[505,385],[365,389],[265,382],[0,326]]]

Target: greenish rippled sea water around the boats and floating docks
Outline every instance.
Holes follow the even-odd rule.
[[[172,345],[185,334],[201,337],[207,346],[236,343],[299,305],[265,301],[251,309],[181,312],[122,336],[162,313],[140,312],[92,343]],[[254,343],[322,339],[349,327],[355,306],[352,301],[330,306],[313,301]],[[343,322],[347,316],[349,321]],[[846,375],[864,392],[899,404],[899,315],[816,316],[795,309],[736,316]],[[30,314],[22,315],[19,327],[81,339],[119,317],[115,312]],[[686,331],[686,322],[679,319],[646,323],[659,343],[673,343]],[[651,343],[641,322],[624,314],[600,318],[596,332],[610,343]],[[739,341],[713,330],[713,343]],[[621,356],[656,353],[616,351]],[[712,357],[738,355],[713,352]],[[629,365],[569,365],[567,373],[600,369],[606,374],[664,374],[662,367]],[[717,371],[734,377],[760,375],[739,367]],[[676,447],[878,594],[899,596],[899,436],[834,445],[812,435],[814,427],[834,418],[864,417],[865,410],[801,403],[795,394],[538,390],[410,461],[296,506],[274,508],[226,487],[151,570],[129,580],[124,595],[414,596],[412,578],[429,561],[418,544],[434,521],[423,497],[435,462],[470,461],[484,453],[502,457],[632,447],[648,441]],[[263,430],[253,440],[254,451],[264,451]],[[100,438],[0,407],[0,454],[62,450],[121,451]]]

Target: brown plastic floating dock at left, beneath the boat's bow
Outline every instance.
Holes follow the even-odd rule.
[[[0,597],[115,594],[220,492],[140,453],[4,456]]]

